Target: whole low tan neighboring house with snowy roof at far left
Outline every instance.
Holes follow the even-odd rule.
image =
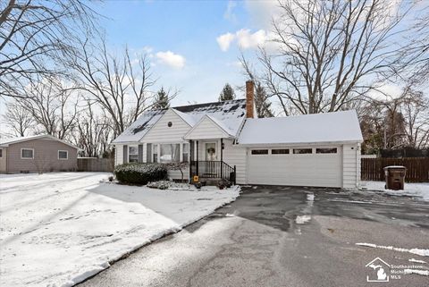
[[[0,173],[70,172],[78,148],[50,135],[0,139]]]

